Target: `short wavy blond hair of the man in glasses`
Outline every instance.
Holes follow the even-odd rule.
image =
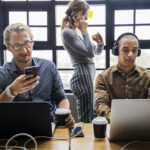
[[[8,25],[4,30],[4,44],[6,46],[9,45],[10,34],[12,32],[20,32],[20,31],[27,31],[29,33],[31,40],[33,40],[33,34],[29,26],[24,25],[22,23],[14,23],[14,24]]]

